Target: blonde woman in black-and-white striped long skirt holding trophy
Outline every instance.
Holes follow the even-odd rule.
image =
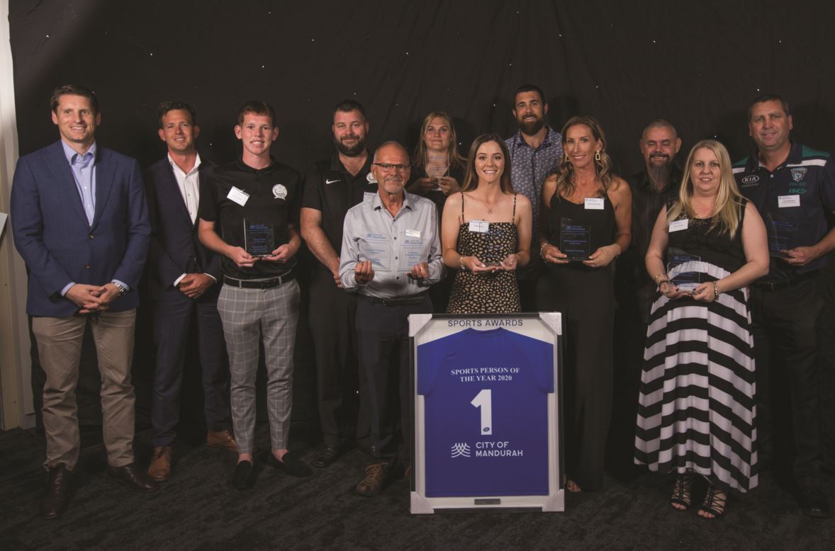
[[[666,260],[665,260],[666,259]],[[718,518],[727,492],[757,486],[754,356],[747,286],[768,272],[766,228],[712,139],[691,149],[679,199],[661,209],[646,253],[658,284],[646,337],[635,463],[676,473],[671,505]]]

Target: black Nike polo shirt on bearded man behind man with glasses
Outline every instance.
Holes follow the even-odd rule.
[[[374,154],[369,151],[366,163],[356,176],[347,171],[338,154],[319,161],[307,171],[301,206],[321,212],[321,229],[337,255],[342,250],[345,213],[352,206],[362,203],[365,194],[377,194],[377,184],[370,184],[367,179],[373,157]],[[326,270],[321,262],[317,264]]]

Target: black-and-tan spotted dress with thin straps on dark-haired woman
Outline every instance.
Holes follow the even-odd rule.
[[[461,193],[461,219],[464,220],[464,194]],[[458,245],[455,250],[462,256],[475,256],[485,264],[501,262],[507,255],[519,249],[516,233],[516,195],[514,214],[510,222],[490,222],[488,231],[470,231],[464,221],[458,229]],[[476,273],[458,270],[449,296],[447,311],[450,314],[506,314],[522,310],[519,302],[519,284],[513,271],[498,270],[492,273]]]

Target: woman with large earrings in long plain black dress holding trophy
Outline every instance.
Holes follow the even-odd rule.
[[[543,186],[537,306],[563,314],[566,488],[579,492],[603,486],[614,374],[610,263],[630,242],[632,195],[610,172],[597,120],[573,117],[562,135],[559,173]]]

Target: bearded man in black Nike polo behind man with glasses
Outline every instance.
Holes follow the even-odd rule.
[[[377,193],[367,178],[372,154],[366,148],[365,109],[352,99],[333,110],[337,152],[307,171],[301,203],[301,236],[316,256],[311,274],[310,321],[316,347],[316,394],[322,448],[312,464],[327,467],[342,454],[357,422],[357,438],[367,436],[364,417],[357,419],[357,352],[354,320],[357,296],[342,289],[339,250],[345,213]]]

